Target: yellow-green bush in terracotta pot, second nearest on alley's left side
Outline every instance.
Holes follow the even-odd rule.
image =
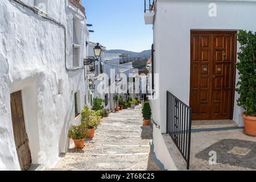
[[[98,111],[89,109],[89,106],[85,106],[82,110],[82,126],[89,130],[88,138],[93,138],[95,130],[100,123],[100,115]]]

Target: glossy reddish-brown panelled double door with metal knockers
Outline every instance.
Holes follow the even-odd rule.
[[[191,32],[193,120],[232,119],[236,32]]]

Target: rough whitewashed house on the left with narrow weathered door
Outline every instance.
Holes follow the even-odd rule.
[[[67,150],[88,39],[79,0],[0,1],[0,170],[51,167]]]

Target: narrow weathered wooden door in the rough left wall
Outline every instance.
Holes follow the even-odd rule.
[[[21,91],[11,94],[11,117],[20,168],[25,171],[31,166],[31,153],[24,122]]]

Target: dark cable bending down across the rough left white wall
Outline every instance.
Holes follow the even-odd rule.
[[[12,1],[12,0],[9,0],[9,1]],[[38,15],[42,16],[43,18],[48,19],[51,22],[53,22],[53,23],[59,25],[60,27],[62,27],[64,29],[64,36],[65,36],[65,40],[64,41],[65,41],[65,69],[66,69],[66,71],[67,72],[75,72],[75,71],[79,71],[80,69],[84,69],[84,67],[77,68],[77,69],[73,69],[73,68],[69,69],[69,68],[67,68],[67,38],[66,38],[67,32],[66,32],[66,28],[65,28],[64,24],[61,24],[60,22],[57,22],[57,20],[55,20],[55,19],[53,19],[53,18],[51,18],[51,17],[49,17],[47,15],[40,14],[38,10],[34,9],[34,7],[28,6],[26,3],[23,3],[20,0],[13,0],[13,1],[15,1],[16,3],[19,3],[20,5],[26,7],[27,9],[30,9],[35,14],[38,14]]]

